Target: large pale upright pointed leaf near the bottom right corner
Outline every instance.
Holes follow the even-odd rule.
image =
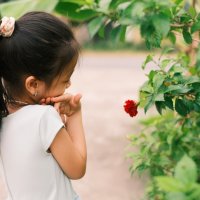
[[[184,184],[195,183],[197,180],[197,167],[195,162],[187,155],[178,162],[175,168],[175,178]]]

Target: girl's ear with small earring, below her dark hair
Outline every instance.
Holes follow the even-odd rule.
[[[25,88],[33,96],[36,96],[39,90],[40,81],[34,76],[28,76],[25,79]]]

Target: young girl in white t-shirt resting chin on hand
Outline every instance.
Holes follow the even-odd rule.
[[[81,95],[64,92],[78,43],[44,12],[0,24],[0,153],[11,199],[77,200],[70,179],[84,176],[87,157]]]

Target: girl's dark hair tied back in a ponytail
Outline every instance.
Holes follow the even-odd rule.
[[[79,45],[70,28],[45,12],[29,12],[15,22],[11,37],[0,36],[0,120],[8,114],[9,91],[20,94],[24,78],[33,75],[51,85],[78,55]]]

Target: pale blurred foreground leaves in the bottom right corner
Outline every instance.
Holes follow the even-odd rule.
[[[166,199],[198,200],[200,184],[197,181],[195,162],[184,155],[175,166],[173,177],[158,176],[155,178],[160,190],[167,192]]]

